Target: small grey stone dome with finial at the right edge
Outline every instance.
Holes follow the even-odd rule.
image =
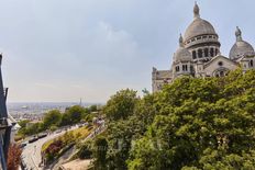
[[[244,55],[254,55],[253,46],[250,43],[243,41],[242,32],[239,27],[236,27],[235,36],[236,42],[230,50],[230,59],[237,59]]]

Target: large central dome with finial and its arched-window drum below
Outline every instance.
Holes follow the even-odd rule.
[[[193,61],[208,61],[220,52],[219,36],[210,22],[200,18],[200,9],[193,7],[193,21],[187,27],[184,45],[192,54]]]

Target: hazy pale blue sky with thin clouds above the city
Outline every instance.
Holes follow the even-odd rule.
[[[0,52],[9,102],[104,103],[152,88],[191,23],[191,0],[0,0]],[[255,45],[254,0],[198,0],[229,56],[239,25]]]

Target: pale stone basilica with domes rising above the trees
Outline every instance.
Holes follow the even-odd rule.
[[[230,70],[242,68],[244,71],[255,68],[253,46],[242,38],[236,27],[236,42],[229,57],[221,55],[219,36],[210,22],[200,18],[198,4],[193,8],[193,21],[179,37],[179,48],[173,55],[169,70],[153,68],[153,92],[162,90],[164,84],[171,83],[180,76],[222,77]]]

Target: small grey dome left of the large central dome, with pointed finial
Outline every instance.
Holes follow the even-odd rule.
[[[187,48],[184,47],[184,38],[180,35],[179,48],[174,54],[174,61],[178,63],[178,61],[191,61],[191,60],[192,60],[192,55]]]

